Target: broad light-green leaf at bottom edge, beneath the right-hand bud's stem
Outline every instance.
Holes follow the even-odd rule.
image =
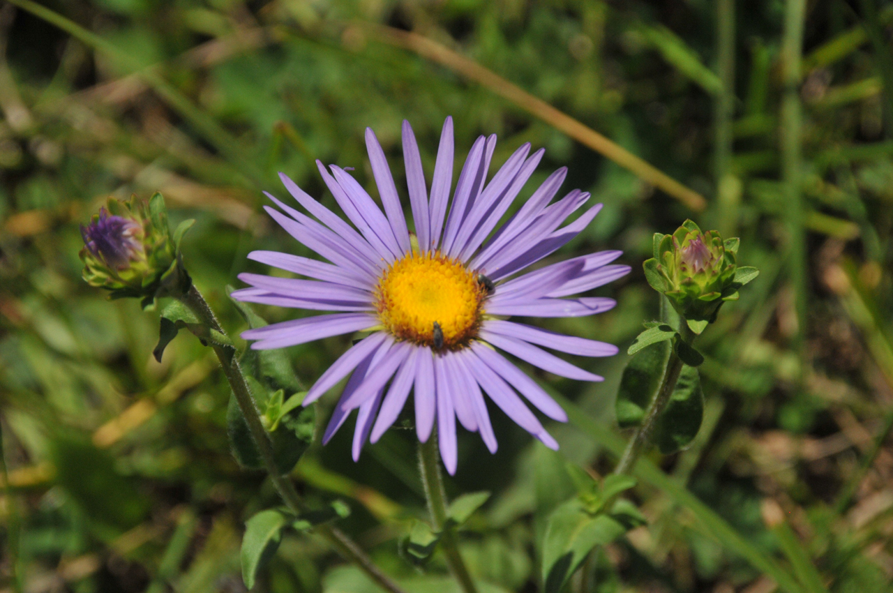
[[[592,516],[574,498],[549,515],[543,541],[543,588],[558,593],[592,548],[619,538],[626,529],[605,514]]]

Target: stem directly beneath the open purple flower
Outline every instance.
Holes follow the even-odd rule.
[[[465,593],[477,593],[472,575],[459,554],[458,539],[455,530],[447,525],[447,493],[444,491],[444,481],[440,475],[440,462],[438,459],[438,434],[435,430],[427,442],[419,443],[419,471],[421,472],[421,484],[425,489],[425,498],[428,499],[428,510],[431,514],[431,522],[435,531],[440,533],[440,544],[447,559],[449,572]]]

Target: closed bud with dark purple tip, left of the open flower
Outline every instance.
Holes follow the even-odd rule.
[[[111,291],[110,298],[135,296],[151,306],[159,296],[184,294],[191,280],[182,265],[179,241],[194,221],[182,222],[171,236],[164,198],[148,203],[110,197],[87,226],[81,225],[83,278]]]

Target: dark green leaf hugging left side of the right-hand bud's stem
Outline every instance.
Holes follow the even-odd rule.
[[[623,370],[614,412],[621,428],[638,426],[663,377],[670,345],[663,341],[643,348]]]

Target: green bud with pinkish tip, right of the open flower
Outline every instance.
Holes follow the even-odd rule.
[[[654,257],[644,263],[648,284],[662,293],[696,333],[714,322],[725,301],[758,273],[736,264],[739,239],[722,240],[685,221],[672,235],[655,233]]]

